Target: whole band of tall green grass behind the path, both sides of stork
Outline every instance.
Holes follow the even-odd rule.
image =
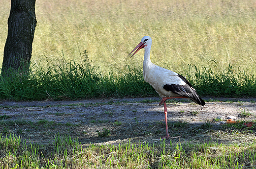
[[[102,73],[75,60],[47,67],[32,66],[28,75],[0,77],[0,99],[59,100],[96,97],[158,97],[144,81],[142,69],[126,66],[117,74]],[[189,65],[183,73],[200,96],[255,97],[256,78],[229,65],[221,68],[215,62],[208,67]]]

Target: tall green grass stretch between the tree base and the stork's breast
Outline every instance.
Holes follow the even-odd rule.
[[[89,62],[32,67],[28,75],[0,77],[0,99],[42,100],[155,96],[140,69],[102,75]],[[24,77],[26,76],[26,77]]]

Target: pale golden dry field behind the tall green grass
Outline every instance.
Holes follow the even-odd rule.
[[[0,64],[10,0],[1,3]],[[101,72],[142,67],[144,52],[131,59],[128,53],[149,35],[151,60],[161,67],[183,72],[215,60],[221,68],[231,63],[256,72],[255,0],[37,0],[35,10],[36,66],[82,63],[87,50]]]

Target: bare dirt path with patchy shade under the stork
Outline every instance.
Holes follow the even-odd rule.
[[[238,121],[256,119],[256,98],[218,98],[199,106],[176,100],[167,103],[171,142],[251,143],[256,130],[223,127],[218,116]],[[214,100],[214,99],[212,99]],[[223,100],[223,101],[222,101]],[[229,101],[226,101],[229,100]],[[0,102],[0,133],[26,142],[49,144],[68,135],[81,144],[160,143],[165,136],[160,98],[92,99],[78,101]],[[241,114],[248,113],[247,116]],[[255,128],[255,127],[254,127]],[[102,137],[100,137],[102,136]]]

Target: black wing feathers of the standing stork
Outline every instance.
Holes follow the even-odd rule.
[[[180,96],[185,96],[191,98],[195,103],[200,104],[202,106],[205,105],[205,101],[198,96],[198,94],[195,92],[195,89],[190,84],[190,82],[183,77],[182,75],[178,74],[178,76],[186,82],[186,85],[176,85],[176,84],[166,84],[163,86],[163,89],[166,91],[171,91],[175,94],[178,94]]]

